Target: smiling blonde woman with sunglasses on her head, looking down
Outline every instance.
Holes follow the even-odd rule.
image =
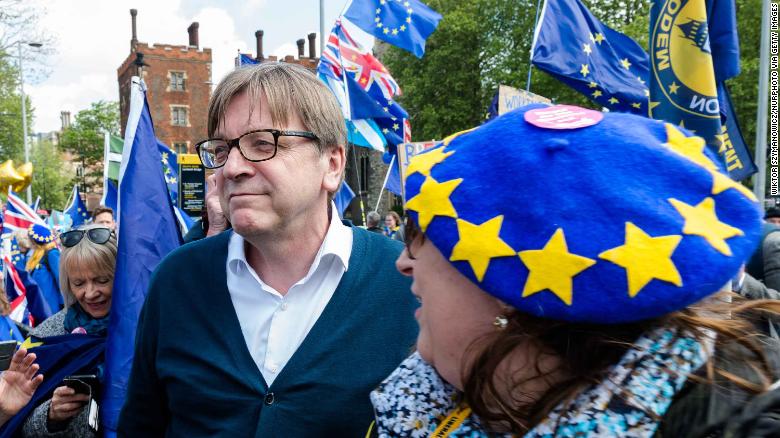
[[[60,235],[63,252],[60,282],[65,308],[30,332],[38,338],[68,333],[105,337],[108,332],[116,268],[116,234],[96,224],[84,225]],[[83,374],[102,379],[102,367]],[[23,426],[26,437],[92,437],[89,427],[89,396],[59,386],[51,398],[29,415]]]

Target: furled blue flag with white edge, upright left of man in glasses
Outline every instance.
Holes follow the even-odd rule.
[[[145,87],[134,77],[119,179],[119,251],[100,415],[109,432],[116,431],[127,392],[136,324],[149,278],[160,260],[181,244],[161,160]]]

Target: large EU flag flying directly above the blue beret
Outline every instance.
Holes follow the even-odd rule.
[[[547,0],[532,62],[611,111],[647,115],[647,53],[610,29],[579,0]]]

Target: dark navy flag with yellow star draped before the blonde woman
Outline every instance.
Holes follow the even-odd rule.
[[[39,373],[44,375],[41,386],[33,394],[32,400],[8,423],[0,428],[0,438],[15,436],[27,416],[30,415],[42,401],[51,398],[52,392],[62,385],[62,379],[74,374],[98,374],[97,366],[103,361],[106,341],[103,337],[93,335],[62,335],[46,338],[27,338],[22,346],[35,353],[35,363],[40,367]]]

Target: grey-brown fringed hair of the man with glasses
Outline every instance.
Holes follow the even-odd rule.
[[[209,137],[224,122],[233,97],[243,92],[254,105],[250,114],[259,105],[261,93],[265,95],[274,127],[285,126],[291,114],[298,115],[304,127],[320,139],[320,152],[346,144],[344,115],[333,93],[306,68],[284,62],[241,67],[225,76],[209,100]]]

